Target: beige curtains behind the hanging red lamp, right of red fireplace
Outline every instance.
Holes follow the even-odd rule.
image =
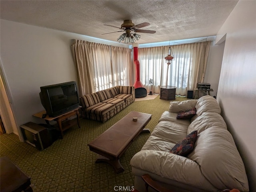
[[[194,89],[203,82],[211,41],[172,45],[175,60],[169,66],[164,57],[169,46],[139,48],[141,81],[149,91],[149,79],[153,79],[153,92],[160,86],[176,86],[176,95],[186,96],[186,90]]]

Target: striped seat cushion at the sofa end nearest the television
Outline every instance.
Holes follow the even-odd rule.
[[[115,105],[100,102],[95,104],[94,106],[90,106],[86,108],[86,112],[90,114],[103,115],[114,109],[115,109]]]

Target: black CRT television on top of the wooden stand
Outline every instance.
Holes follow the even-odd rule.
[[[79,106],[75,81],[40,87],[41,103],[49,117],[57,117]]]

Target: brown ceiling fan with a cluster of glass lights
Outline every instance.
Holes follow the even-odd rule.
[[[107,25],[110,27],[116,27],[118,29],[122,29],[122,31],[125,31],[120,37],[118,37],[117,41],[120,43],[121,41],[124,41],[124,43],[134,43],[136,40],[140,39],[140,35],[137,33],[156,33],[156,31],[152,30],[144,30],[140,29],[142,27],[146,27],[150,25],[149,23],[141,23],[138,25],[134,25],[132,23],[132,20],[124,20],[124,23],[121,25],[121,27],[116,27],[112,25]],[[122,31],[115,31],[110,33],[116,33],[116,32],[122,32]],[[134,31],[134,33],[131,33]],[[109,34],[109,33],[103,33],[102,35]]]

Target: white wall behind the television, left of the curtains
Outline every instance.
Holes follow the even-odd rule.
[[[128,47],[6,20],[0,20],[0,25],[0,57],[18,127],[28,121],[45,123],[32,116],[44,110],[39,97],[40,86],[78,81],[71,52],[72,39]]]

